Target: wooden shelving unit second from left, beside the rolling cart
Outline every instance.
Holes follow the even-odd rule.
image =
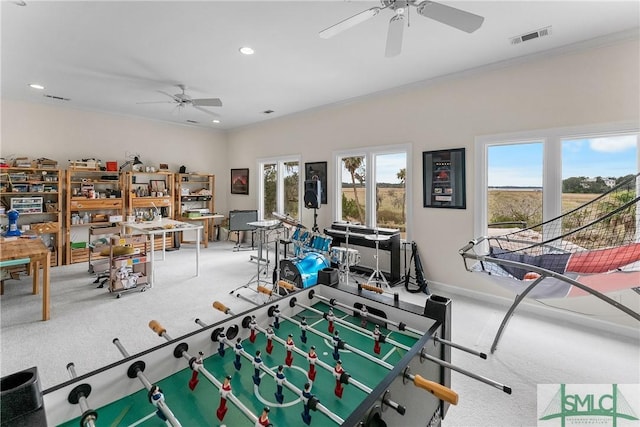
[[[66,173],[66,263],[89,262],[90,227],[124,219],[122,177],[116,171],[70,168]]]

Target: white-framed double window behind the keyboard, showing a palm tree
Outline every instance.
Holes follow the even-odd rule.
[[[337,153],[335,218],[368,227],[398,228],[406,237],[409,150],[410,146],[401,145]]]

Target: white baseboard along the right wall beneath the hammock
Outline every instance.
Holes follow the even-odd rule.
[[[489,304],[498,306],[504,306],[504,314],[506,314],[508,308],[513,304],[515,298],[505,298],[502,296],[491,295],[485,292],[478,292],[471,289],[461,288],[441,282],[429,281],[429,289],[433,293],[438,293],[438,290],[445,294],[460,295],[467,298],[483,301]],[[526,299],[520,303],[515,313],[518,311],[528,312],[534,315],[542,316],[546,319],[556,319],[562,322],[569,322],[577,326],[594,328],[608,334],[617,334],[626,338],[635,339],[640,343],[640,325],[638,327],[632,327],[627,325],[621,325],[618,323],[607,322],[606,320],[593,319],[583,316],[579,313],[573,313],[568,310],[562,310],[553,307],[545,307],[535,304],[534,302],[527,301]]]

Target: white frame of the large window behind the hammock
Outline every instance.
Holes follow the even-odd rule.
[[[474,236],[486,236],[488,204],[488,147],[522,143],[542,143],[542,218],[543,221],[562,214],[562,143],[567,139],[637,135],[636,172],[640,171],[640,126],[637,122],[558,127],[475,138]],[[529,224],[532,225],[532,224]]]

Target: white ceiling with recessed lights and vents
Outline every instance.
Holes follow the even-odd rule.
[[[638,1],[458,1],[485,17],[472,34],[411,8],[402,53],[384,56],[393,15],[330,39],[318,32],[370,1],[3,0],[2,97],[233,129],[423,80],[618,33],[637,36]],[[511,45],[544,27],[552,35]],[[252,56],[238,52],[255,49]],[[38,82],[46,89],[28,87]],[[222,107],[174,108],[158,91],[220,98]],[[45,94],[68,98],[60,101]],[[273,110],[272,114],[264,114]]]

